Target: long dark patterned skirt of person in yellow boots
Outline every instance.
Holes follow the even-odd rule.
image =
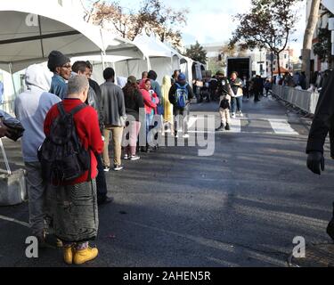
[[[55,236],[65,242],[94,240],[99,227],[96,181],[60,187],[55,196]]]

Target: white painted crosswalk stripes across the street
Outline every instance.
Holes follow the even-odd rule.
[[[189,133],[215,133],[216,125],[208,126],[208,121],[208,116],[191,117]],[[225,133],[299,135],[288,118],[232,118],[230,127],[231,130]]]

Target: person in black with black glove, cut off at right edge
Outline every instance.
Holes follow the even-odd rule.
[[[324,78],[322,92],[315,110],[314,121],[308,135],[306,153],[307,167],[316,175],[325,170],[323,145],[330,133],[330,157],[334,159],[334,72]],[[327,227],[327,233],[334,240],[334,217]]]

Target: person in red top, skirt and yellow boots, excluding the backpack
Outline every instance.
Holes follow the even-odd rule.
[[[86,102],[89,83],[85,76],[69,79],[68,95],[62,101],[65,111],[76,108]],[[59,116],[57,105],[54,105],[45,117],[45,136],[50,134],[53,120]],[[77,137],[91,154],[91,175],[86,171],[77,179],[62,185],[57,190],[57,201],[54,203],[53,228],[55,235],[63,243],[64,261],[67,264],[80,265],[98,255],[97,248],[89,248],[88,240],[94,240],[98,231],[98,211],[96,182],[97,161],[95,154],[103,151],[102,135],[96,110],[87,106],[74,115]]]

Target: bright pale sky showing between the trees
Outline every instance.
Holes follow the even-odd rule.
[[[183,45],[195,44],[196,40],[201,45],[227,42],[232,37],[232,31],[237,23],[232,21],[232,16],[239,12],[248,12],[250,0],[162,0],[168,6],[175,9],[188,8],[188,20],[186,27],[182,28]],[[119,0],[119,3],[127,8],[139,6],[141,0]],[[297,32],[291,37],[290,47],[297,53],[303,46],[305,31],[305,0],[298,7],[300,20],[297,22]],[[292,39],[297,39],[293,42]]]

